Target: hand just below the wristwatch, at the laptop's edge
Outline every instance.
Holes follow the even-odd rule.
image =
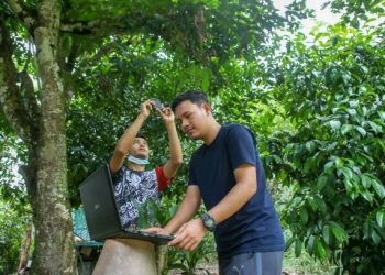
[[[195,250],[205,237],[207,229],[201,219],[195,219],[183,224],[176,232],[176,238],[168,245],[179,250]]]

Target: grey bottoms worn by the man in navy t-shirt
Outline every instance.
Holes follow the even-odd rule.
[[[229,258],[219,258],[220,275],[280,275],[283,251],[248,252]]]

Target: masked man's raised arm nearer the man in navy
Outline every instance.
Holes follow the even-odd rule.
[[[175,127],[175,116],[170,108],[163,108],[158,111],[168,133],[169,160],[163,166],[164,175],[170,179],[175,177],[176,170],[183,162],[180,141]]]

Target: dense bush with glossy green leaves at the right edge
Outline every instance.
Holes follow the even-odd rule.
[[[305,246],[350,273],[383,274],[385,78],[382,29],[330,26],[306,46],[298,35],[274,92],[295,125],[273,146],[284,184],[295,186],[284,221]],[[366,31],[366,30],[365,30]]]

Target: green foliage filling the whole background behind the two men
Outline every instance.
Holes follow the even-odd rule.
[[[23,3],[33,15],[36,1]],[[286,18],[277,14],[273,1],[62,4],[57,51],[65,89],[73,92],[67,148],[74,206],[80,202],[79,183],[109,161],[143,100],[169,102],[182,90],[201,88],[220,122],[242,122],[257,133],[267,176],[294,189],[283,220],[293,231],[288,246],[293,243],[294,253],[305,249],[322,261],[342,262],[353,274],[381,274],[376,268],[385,251],[384,32],[362,24],[371,21],[367,11],[384,15],[383,1],[330,1],[333,10],[345,13],[343,22],[316,31],[314,42],[300,33],[293,38],[275,33],[279,28],[298,29],[297,19],[311,14],[304,0],[293,1]],[[15,67],[34,78],[38,95],[30,30],[4,2],[0,13],[12,33]],[[282,53],[285,44],[287,52]],[[10,167],[23,167],[28,144],[15,138],[3,113],[0,130],[1,200],[7,209],[24,211],[26,196],[12,185]],[[168,148],[162,121],[152,116],[143,131],[152,165],[163,164]],[[199,145],[182,140],[185,164],[163,194],[161,210],[152,206],[162,224],[182,200],[187,163]],[[4,219],[18,228],[16,217]],[[19,233],[19,239],[4,239],[10,263],[16,257]],[[212,252],[212,245],[205,245],[191,254],[172,251],[169,266],[176,263],[190,273],[199,257]]]

